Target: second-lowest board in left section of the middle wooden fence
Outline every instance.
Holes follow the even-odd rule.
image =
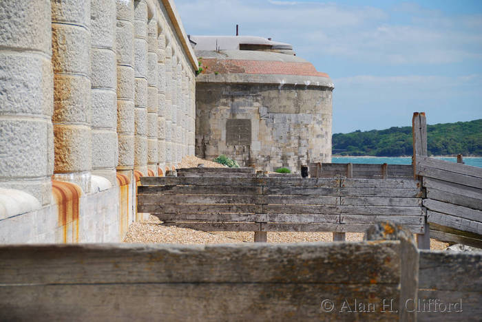
[[[162,222],[260,222],[254,213],[152,213]]]

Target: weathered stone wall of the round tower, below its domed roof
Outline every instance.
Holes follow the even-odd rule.
[[[277,67],[271,62],[262,67],[269,64]],[[225,154],[240,166],[287,167],[294,173],[309,162],[331,162],[329,78],[233,68],[232,73],[198,76],[196,155]]]

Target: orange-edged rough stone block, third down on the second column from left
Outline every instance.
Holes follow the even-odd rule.
[[[90,123],[91,85],[78,75],[54,75],[53,122]]]

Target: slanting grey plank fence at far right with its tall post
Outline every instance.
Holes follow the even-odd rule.
[[[482,248],[482,168],[429,158],[425,118],[414,114],[419,131],[414,130],[413,169],[426,190],[426,230],[442,241]],[[427,233],[424,244],[428,238]]]

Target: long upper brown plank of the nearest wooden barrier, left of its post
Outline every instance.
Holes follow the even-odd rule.
[[[359,270],[362,262],[373,266],[363,264],[364,270]],[[347,243],[343,247],[323,243],[0,246],[2,286],[141,281],[359,284],[370,283],[373,276],[383,283],[398,283],[399,267],[397,241]]]

